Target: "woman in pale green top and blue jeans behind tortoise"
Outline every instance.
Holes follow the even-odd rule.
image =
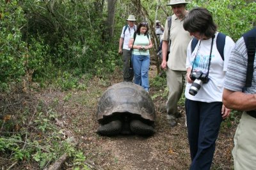
[[[148,34],[148,23],[141,22],[138,29],[131,35],[129,48],[132,49],[132,66],[134,69],[134,83],[149,92],[148,71],[150,66],[149,49],[152,41]]]

